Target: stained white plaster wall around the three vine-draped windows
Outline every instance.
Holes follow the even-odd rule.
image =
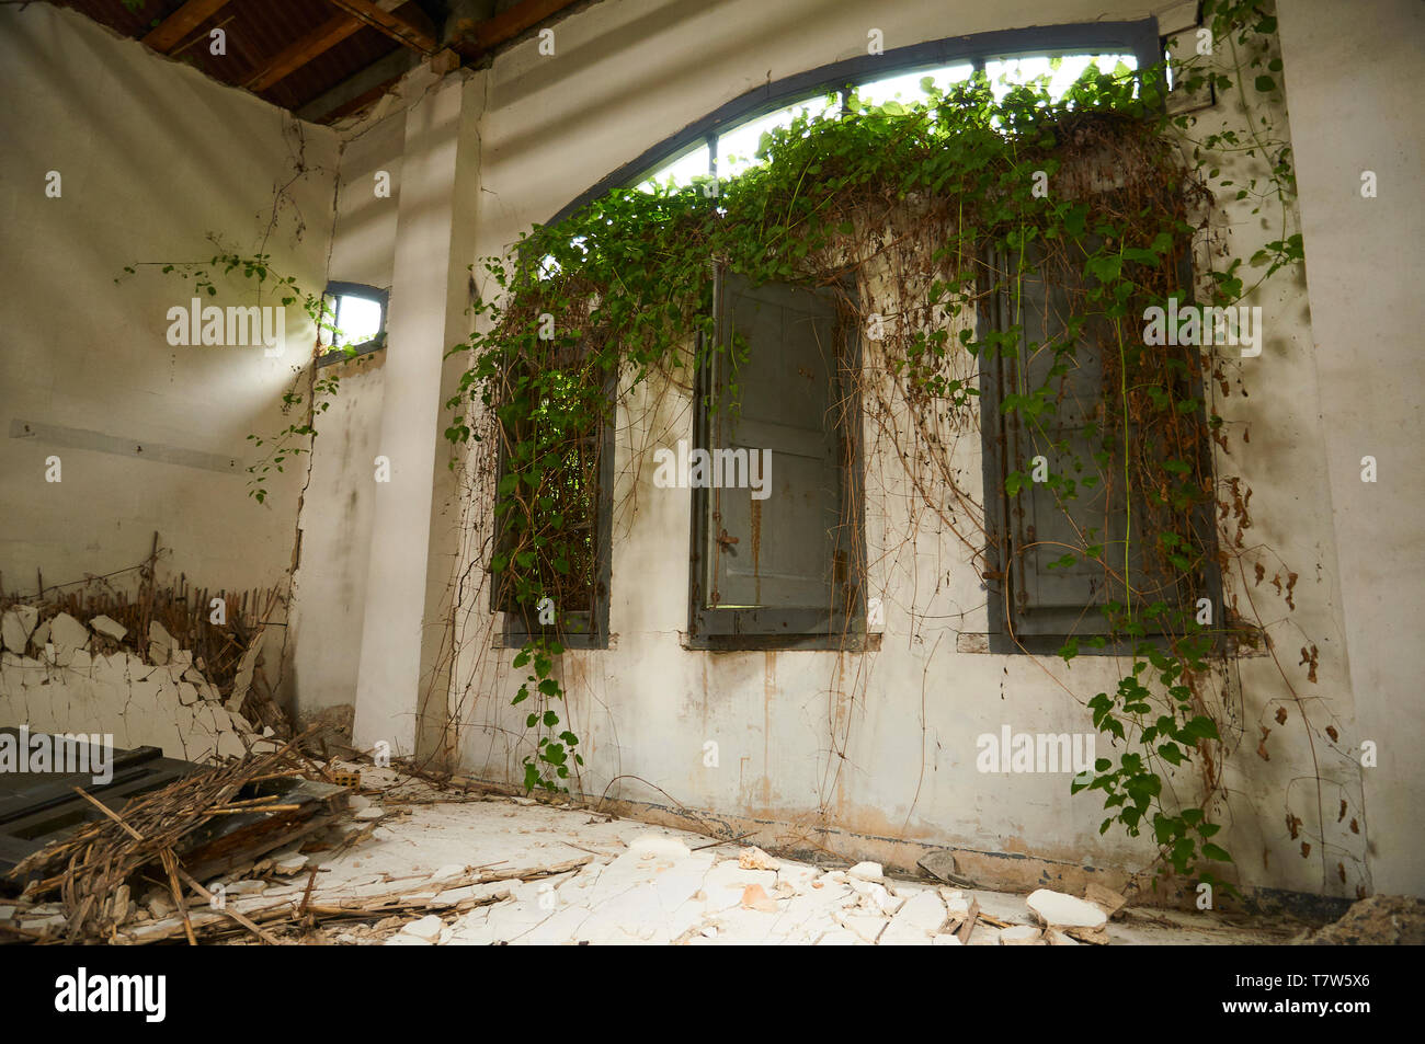
[[[1377,27],[1362,20],[1357,36],[1369,34],[1375,40],[1394,33],[1396,40],[1411,38],[1404,31],[1408,19],[1396,7],[1382,4],[1384,24]],[[608,171],[745,90],[864,53],[871,27],[879,27],[886,47],[895,47],[962,33],[1136,19],[1153,10],[1149,4],[1069,0],[993,6],[804,1],[775,7],[740,0],[714,4],[606,0],[559,23],[554,57],[539,56],[530,43],[494,63],[482,124],[484,195],[477,252],[502,251],[529,224],[546,219]],[[1315,47],[1327,47],[1325,33],[1321,28],[1322,38]],[[1355,46],[1364,48],[1364,40]],[[1334,73],[1322,73],[1311,60],[1292,66],[1290,53],[1287,58],[1288,101],[1297,97],[1300,83],[1312,84],[1307,88],[1308,98],[1312,94],[1337,98],[1341,81]],[[1365,61],[1364,54],[1357,60]],[[1379,98],[1379,111],[1394,111],[1405,120],[1411,105],[1404,98],[1388,101],[1384,85],[1412,83],[1408,66],[1381,63],[1381,56],[1374,60],[1381,64],[1377,74],[1381,87],[1378,95],[1368,97]],[[1277,115],[1285,130],[1282,114]],[[1340,103],[1320,121],[1302,125],[1295,113],[1292,117],[1292,131],[1305,142],[1298,148],[1298,161],[1310,205],[1311,187],[1322,178],[1310,167],[1334,148],[1331,142],[1342,121],[1352,117]],[[1231,121],[1240,122],[1240,114],[1235,101],[1224,98],[1218,110],[1203,117],[1201,132]],[[1359,134],[1374,141],[1379,131]],[[1398,172],[1401,187],[1392,191],[1401,192],[1401,199],[1418,199],[1418,164],[1408,164],[1399,148],[1389,161],[1378,162]],[[1230,174],[1241,171],[1224,168],[1218,181]],[[1349,184],[1334,191],[1348,197],[1355,177],[1352,168]],[[1416,191],[1411,194],[1408,185]],[[1221,194],[1223,198],[1233,191]],[[1395,214],[1398,219],[1399,212]],[[1311,254],[1310,211],[1307,216]],[[1349,231],[1345,218],[1332,228],[1340,236]],[[1409,238],[1409,228],[1388,238],[1395,251],[1404,252],[1406,244],[1416,242]],[[1294,214],[1288,214],[1291,231],[1295,231]],[[1251,215],[1250,207],[1227,205],[1214,212],[1213,232],[1230,236],[1233,249],[1248,256],[1260,242],[1275,238],[1280,225]],[[1331,251],[1330,242],[1327,249]],[[1335,271],[1330,265],[1332,261],[1322,265],[1328,273]],[[1308,271],[1315,288],[1317,269],[1308,265]],[[1377,275],[1381,271],[1387,266],[1378,266]],[[1352,286],[1369,282],[1364,261],[1347,273],[1357,276]],[[1347,291],[1332,291],[1331,301],[1338,302],[1342,313],[1348,299]],[[1387,305],[1388,293],[1378,292],[1372,299]],[[1340,456],[1345,461],[1340,463],[1341,474],[1347,474],[1345,459],[1358,451],[1354,442],[1349,453],[1328,447],[1338,444],[1338,426],[1375,410],[1369,397],[1375,389],[1359,377],[1355,383],[1338,383],[1334,373],[1331,380],[1325,379],[1300,278],[1281,278],[1253,303],[1264,308],[1267,342],[1261,359],[1228,366],[1227,393],[1217,392],[1217,407],[1228,420],[1228,449],[1218,454],[1217,469],[1220,477],[1240,476],[1254,489],[1254,528],[1244,531],[1244,564],[1241,571],[1234,565],[1228,577],[1228,598],[1235,600],[1244,615],[1264,622],[1271,645],[1258,655],[1243,657],[1218,679],[1235,751],[1227,776],[1233,796],[1216,812],[1227,823],[1221,840],[1237,853],[1240,880],[1354,896],[1358,887],[1371,887],[1365,837],[1348,829],[1348,819],[1362,810],[1359,769],[1349,756],[1359,732],[1351,684],[1354,664],[1357,658],[1379,662],[1388,657],[1399,665],[1385,675],[1362,675],[1382,682],[1379,695],[1372,695],[1377,729],[1382,734],[1415,712],[1402,682],[1421,674],[1415,647],[1401,642],[1387,648],[1382,638],[1396,634],[1381,630],[1387,614],[1406,608],[1405,602],[1381,597],[1379,585],[1389,583],[1388,574],[1372,584],[1352,578],[1338,564],[1338,553],[1349,558],[1337,530],[1340,514],[1332,508],[1337,480],[1328,483],[1327,463]],[[1315,305],[1315,296],[1311,303]],[[1352,309],[1352,315],[1359,312]],[[1404,330],[1405,313],[1398,315],[1398,329]],[[1418,316],[1418,305],[1414,315]],[[1315,340],[1320,342],[1320,335]],[[1399,350],[1409,350],[1408,343],[1402,336]],[[1379,350],[1374,339],[1371,345],[1369,350]],[[1359,350],[1367,350],[1364,343]],[[1362,370],[1381,379],[1399,373],[1398,366],[1371,369],[1364,363]],[[1401,397],[1408,389],[1396,387],[1391,409],[1377,412],[1378,430],[1371,444],[1404,453],[1415,432],[1411,424],[1416,422],[1399,422],[1418,419],[1418,413]],[[1328,399],[1338,406],[1327,407]],[[1341,410],[1334,424],[1324,423],[1327,409]],[[1099,836],[1100,803],[1090,796],[1070,796],[1066,776],[976,772],[975,738],[998,732],[1003,724],[1030,732],[1087,729],[1089,714],[1082,701],[1104,688],[1112,691],[1121,664],[1079,658],[1066,668],[1052,658],[959,652],[958,632],[986,630],[979,578],[958,541],[946,534],[932,536],[931,528],[922,528],[918,547],[898,547],[895,534],[909,524],[911,497],[903,480],[888,466],[893,461],[874,457],[868,463],[872,593],[881,588],[886,598],[879,654],[708,654],[681,648],[680,631],[687,625],[688,497],[653,489],[651,467],[643,454],[685,434],[691,414],[677,396],[665,400],[654,417],[644,413],[634,404],[621,417],[618,433],[616,503],[621,508],[613,561],[614,648],[567,654],[563,665],[570,716],[583,736],[580,749],[589,762],[586,792],[600,793],[611,785],[610,793],[664,806],[683,803],[802,823],[812,842],[815,828],[829,823],[882,837],[1032,852],[1084,865],[1146,865],[1147,845],[1124,839],[1117,829]],[[975,491],[979,463],[973,442],[959,449],[956,464]],[[1418,486],[1404,474],[1398,481],[1391,487],[1396,513],[1389,540],[1399,550],[1415,531],[1408,520],[1418,511],[1414,491]],[[1358,496],[1352,493],[1352,498]],[[1362,508],[1361,518],[1365,517]],[[1374,508],[1368,517],[1377,517]],[[469,540],[469,555],[479,560],[486,536],[482,527],[487,523],[477,517],[472,521],[477,528]],[[1357,558],[1369,554],[1374,546],[1364,523],[1358,524],[1362,531],[1345,534],[1345,543],[1355,548],[1349,554]],[[881,560],[878,553],[892,548]],[[1265,568],[1260,585],[1253,574],[1257,561]],[[1295,608],[1285,605],[1285,598],[1271,587],[1274,574],[1285,580],[1290,571],[1298,574]],[[1348,602],[1355,591],[1351,604],[1355,618],[1349,625],[1342,591]],[[1248,614],[1248,601],[1255,605],[1254,614]],[[523,715],[512,712],[507,701],[523,671],[507,669],[509,652],[489,651],[492,621],[483,611],[483,595],[470,598],[467,605],[470,612],[459,618],[462,662],[452,692],[452,702],[467,725],[462,735],[463,759],[479,773],[519,779],[519,762],[529,748],[522,745]],[[1406,618],[1402,617],[1401,625]],[[1315,684],[1307,681],[1307,667],[1297,664],[1297,648],[1304,644],[1320,649]],[[1357,681],[1357,692],[1359,687]],[[1285,724],[1275,721],[1281,709],[1287,709]],[[1310,735],[1301,725],[1302,714],[1310,716]],[[1270,761],[1255,751],[1264,725],[1275,734],[1265,742]],[[1318,742],[1327,726],[1340,734],[1340,742]],[[704,742],[710,739],[720,745],[715,769],[707,768],[703,758]],[[1100,736],[1099,742],[1107,743],[1107,738]],[[1302,776],[1321,776],[1320,793],[1314,782],[1302,789]],[[1415,793],[1411,788],[1419,786],[1421,773],[1395,761],[1379,779],[1382,790],[1401,785],[1405,793]],[[1335,812],[1342,799],[1351,816],[1338,822]],[[1302,829],[1315,839],[1310,857],[1300,852],[1300,839],[1288,837],[1282,825],[1287,813],[1300,816]],[[1391,830],[1395,822],[1388,820]],[[1392,887],[1421,892],[1421,876],[1411,870],[1419,856],[1418,836],[1399,836],[1384,879]]]

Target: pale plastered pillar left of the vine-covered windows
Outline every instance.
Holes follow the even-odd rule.
[[[418,752],[422,711],[443,718],[442,594],[453,561],[455,497],[445,400],[469,335],[469,271],[479,199],[482,74],[456,74],[406,113],[370,563],[356,677],[358,748]],[[408,84],[408,95],[426,84]],[[370,464],[375,477],[375,463]]]

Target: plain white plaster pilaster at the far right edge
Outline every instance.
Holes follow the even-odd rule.
[[[1345,625],[1332,645],[1349,651],[1357,721],[1348,755],[1378,748],[1362,771],[1378,892],[1425,893],[1425,715],[1419,621],[1425,594],[1421,513],[1419,335],[1425,299],[1425,7],[1409,0],[1351,6],[1281,0],[1281,46],[1307,251],[1312,365],[1320,387],[1308,423],[1324,432],[1310,461],[1317,503],[1330,508],[1341,561]],[[1378,195],[1362,198],[1374,171]],[[1300,449],[1284,446],[1295,460]],[[1374,456],[1378,481],[1361,481]],[[1320,490],[1327,486],[1325,490]]]

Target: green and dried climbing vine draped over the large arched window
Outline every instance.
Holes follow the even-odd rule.
[[[1264,269],[1251,286],[1243,259],[1227,258],[1198,281],[1207,292],[1196,296],[1233,308],[1302,254],[1290,232],[1290,148],[1271,137],[1257,104],[1280,90],[1270,4],[1207,0],[1204,16],[1208,38],[1230,48],[1230,68],[1220,50],[1198,47],[1174,61],[1174,97],[1243,90],[1247,134],[1196,140],[1197,118],[1166,105],[1163,67],[1090,67],[1057,100],[1046,83],[996,98],[983,74],[943,91],[928,78],[922,103],[872,105],[852,95],[846,113],[832,105],[768,131],[762,164],[737,178],[617,189],[484,261],[492,292],[476,305],[476,332],[452,349],[466,353],[467,369],[445,434],[456,446],[494,443],[503,461],[489,558],[500,605],[527,621],[553,611],[551,627],[532,627],[544,637],[514,661],[534,668],[514,696],[533,701],[526,725],[539,731],[524,761],[526,788],[560,786],[577,743],[561,728],[554,664],[563,615],[598,583],[596,434],[616,400],[627,403],[654,375],[687,386],[693,367],[730,350],[712,336],[714,266],[754,285],[849,283],[848,308],[884,328],[871,338],[866,369],[891,375],[895,392],[865,396],[882,420],[908,409],[918,432],[946,419],[972,429],[980,380],[963,360],[1007,369],[1003,423],[1059,461],[1043,481],[1074,523],[1076,540],[1054,548],[1062,554],[1052,565],[1093,565],[1112,593],[1097,607],[1103,621],[1070,637],[1059,655],[1072,664],[1097,647],[1131,659],[1113,692],[1086,699],[1094,728],[1116,743],[1072,788],[1102,793],[1102,832],[1147,829],[1160,873],[1217,882],[1213,865],[1231,856],[1211,840],[1220,830],[1208,799],[1221,789],[1223,738],[1204,688],[1214,658],[1254,634],[1226,620],[1223,607],[1204,612],[1201,597],[1231,550],[1214,514],[1237,518],[1241,547],[1245,501],[1235,480],[1220,500],[1213,474],[1211,443],[1224,434],[1207,389],[1226,383],[1220,360],[1196,345],[1147,343],[1141,318],[1194,298],[1184,271],[1214,202],[1208,184],[1227,158],[1258,161],[1267,172],[1214,188],[1251,198],[1257,209],[1273,205],[1282,231],[1245,262]],[[1052,189],[1036,192],[1036,184]],[[1032,282],[1062,295],[1062,328],[1029,323]],[[975,322],[990,301],[1003,301],[1012,322]],[[931,322],[932,312],[946,322]],[[1090,349],[1102,367],[1097,404],[1086,416],[1060,416],[1066,385],[1086,370]],[[1032,365],[1020,365],[1022,352]],[[990,419],[985,424],[989,437]],[[949,453],[921,439],[899,454],[906,467],[939,476],[939,496],[919,481],[916,489],[946,520],[948,503],[972,500],[955,484]],[[1012,514],[1033,481],[1029,460],[1006,467]],[[1096,497],[1121,504],[1123,533],[1080,524],[1076,503]],[[1013,578],[999,537],[952,521],[986,578],[1007,594]],[[1131,580],[1139,574],[1151,581]],[[1198,802],[1166,786],[1173,769],[1194,761]]]

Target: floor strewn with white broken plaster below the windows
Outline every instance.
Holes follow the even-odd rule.
[[[110,941],[181,941],[191,927],[241,944],[1241,944],[1290,941],[1302,927],[956,890],[874,863],[818,867],[571,805],[361,771],[366,793],[325,833],[205,883],[224,909],[192,890],[185,927],[172,892],[140,889],[115,910]],[[57,937],[64,924],[58,903],[0,899],[11,937]]]

